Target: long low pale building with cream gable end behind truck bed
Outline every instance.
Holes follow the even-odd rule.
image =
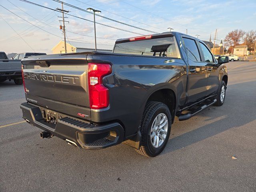
[[[112,53],[113,46],[97,45],[97,51]],[[84,42],[67,41],[66,47],[67,47],[67,53],[95,51],[94,44],[89,44]],[[56,44],[56,46],[52,48],[52,53],[53,54],[65,53],[64,41],[60,41],[58,44]]]

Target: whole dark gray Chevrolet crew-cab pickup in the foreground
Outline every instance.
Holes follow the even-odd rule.
[[[178,32],[119,39],[113,53],[54,54],[22,60],[23,118],[70,145],[120,144],[156,156],[174,117],[187,120],[224,103],[228,57]]]

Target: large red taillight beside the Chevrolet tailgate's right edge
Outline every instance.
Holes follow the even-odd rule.
[[[104,76],[112,73],[112,67],[107,63],[88,64],[88,84],[90,108],[102,109],[109,105],[108,88],[102,83]]]

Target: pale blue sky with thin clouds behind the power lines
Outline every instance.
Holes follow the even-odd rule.
[[[53,0],[29,1],[54,10],[61,8],[61,4]],[[200,35],[200,39],[209,40],[211,34],[213,40],[217,29],[217,43],[232,30],[256,30],[256,0],[64,0],[64,2],[85,10],[88,7],[101,10],[102,16],[157,33],[166,32],[169,27],[183,33],[186,33],[187,29],[191,36]],[[59,29],[61,18],[58,18],[62,16],[61,13],[20,0],[0,0],[0,5],[17,15],[0,6],[0,51],[7,54],[12,52],[51,54],[51,49],[63,40],[62,31]],[[93,15],[90,13],[66,5],[64,9],[69,10],[69,14],[74,16],[93,20]],[[94,48],[93,22],[69,15],[66,17],[68,18],[65,20],[69,21],[66,22],[67,42],[69,40],[88,42],[86,44],[88,48]],[[116,39],[153,34],[98,16],[96,22],[138,33],[133,34],[96,24],[97,48],[112,49]]]

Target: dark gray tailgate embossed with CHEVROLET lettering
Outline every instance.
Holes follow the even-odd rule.
[[[86,54],[45,55],[22,64],[29,102],[90,120]]]

